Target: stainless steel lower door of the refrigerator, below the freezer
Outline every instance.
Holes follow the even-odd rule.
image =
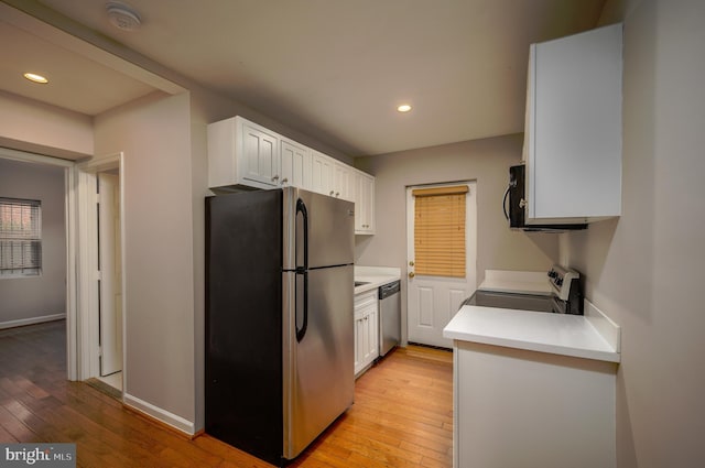
[[[284,273],[285,304],[301,300],[301,276]],[[352,265],[310,271],[308,324],[301,341],[296,314],[284,313],[284,458],[299,455],[352,404]]]

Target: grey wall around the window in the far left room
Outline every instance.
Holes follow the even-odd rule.
[[[0,277],[0,328],[66,314],[64,168],[0,159],[0,197],[42,202],[42,274]]]

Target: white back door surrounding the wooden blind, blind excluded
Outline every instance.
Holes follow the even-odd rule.
[[[443,337],[443,328],[457,313],[460,303],[477,287],[477,205],[475,182],[446,185],[467,185],[465,195],[465,276],[433,276],[417,274],[414,252],[415,188],[442,187],[423,186],[406,188],[406,246],[408,283],[406,314],[410,342],[452,348],[453,340]]]

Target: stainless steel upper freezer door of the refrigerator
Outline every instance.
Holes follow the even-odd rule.
[[[286,187],[283,193],[284,270],[304,264],[304,215],[296,209],[299,199],[303,202],[308,219],[308,268],[352,264],[355,204],[294,187]]]

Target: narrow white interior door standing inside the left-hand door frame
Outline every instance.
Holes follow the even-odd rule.
[[[122,370],[122,285],[120,183],[98,173],[98,255],[100,281],[100,376]]]

